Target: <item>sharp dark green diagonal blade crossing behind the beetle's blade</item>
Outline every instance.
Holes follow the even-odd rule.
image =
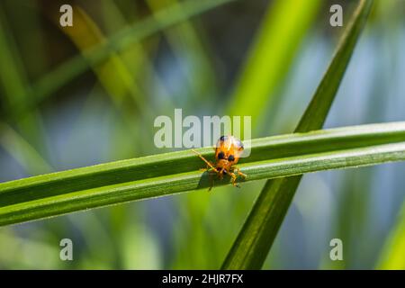
[[[356,46],[356,40],[365,26],[371,6],[372,1],[360,1],[351,23],[348,24],[339,42],[337,52],[296,131],[316,130],[322,127]],[[259,269],[263,266],[301,178],[302,176],[298,175],[266,182],[238,238],[229,250],[222,268]]]

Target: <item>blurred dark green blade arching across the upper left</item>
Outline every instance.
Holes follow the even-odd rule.
[[[34,107],[49,94],[57,91],[61,86],[66,85],[76,76],[109,58],[112,52],[126,49],[132,43],[144,40],[148,36],[157,33],[157,31],[162,31],[176,23],[181,23],[195,15],[202,14],[220,4],[231,1],[234,0],[184,1],[182,4],[175,4],[159,11],[157,15],[151,15],[144,20],[133,23],[109,37],[105,43],[83,51],[85,56],[76,55],[40,78],[37,83],[32,85],[32,92],[29,97],[31,103],[15,109],[19,109],[19,114],[31,109],[31,107]],[[179,13],[180,11],[181,13]],[[157,21],[157,19],[159,20]]]

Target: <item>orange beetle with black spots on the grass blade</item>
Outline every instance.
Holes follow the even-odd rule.
[[[231,178],[231,183],[234,186],[238,186],[236,179],[238,175],[246,178],[247,175],[240,172],[238,166],[235,166],[238,163],[239,157],[243,153],[243,144],[242,141],[233,137],[233,136],[221,136],[215,147],[215,164],[212,164],[210,161],[206,160],[200,153],[193,150],[198,157],[202,158],[207,164],[207,168],[203,169],[206,171],[214,171],[220,179],[223,178],[223,175],[229,175]],[[235,174],[236,172],[236,174]],[[211,190],[212,184],[209,190]]]

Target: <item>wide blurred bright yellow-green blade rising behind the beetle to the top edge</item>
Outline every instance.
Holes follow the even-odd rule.
[[[240,75],[230,113],[260,115],[265,111],[320,4],[320,0],[279,0],[269,6]],[[256,124],[257,117],[253,117],[253,127]]]

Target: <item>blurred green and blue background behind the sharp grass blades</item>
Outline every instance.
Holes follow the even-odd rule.
[[[356,3],[3,0],[0,181],[169,151],[155,148],[153,121],[175,108],[251,115],[254,138],[289,133]],[[343,27],[329,25],[331,4]],[[404,51],[405,1],[376,0],[325,127],[405,121]],[[305,175],[265,268],[405,268],[404,173]],[[0,268],[215,269],[263,184],[0,228]],[[59,259],[61,238],[73,261]],[[343,261],[329,259],[332,238]]]

